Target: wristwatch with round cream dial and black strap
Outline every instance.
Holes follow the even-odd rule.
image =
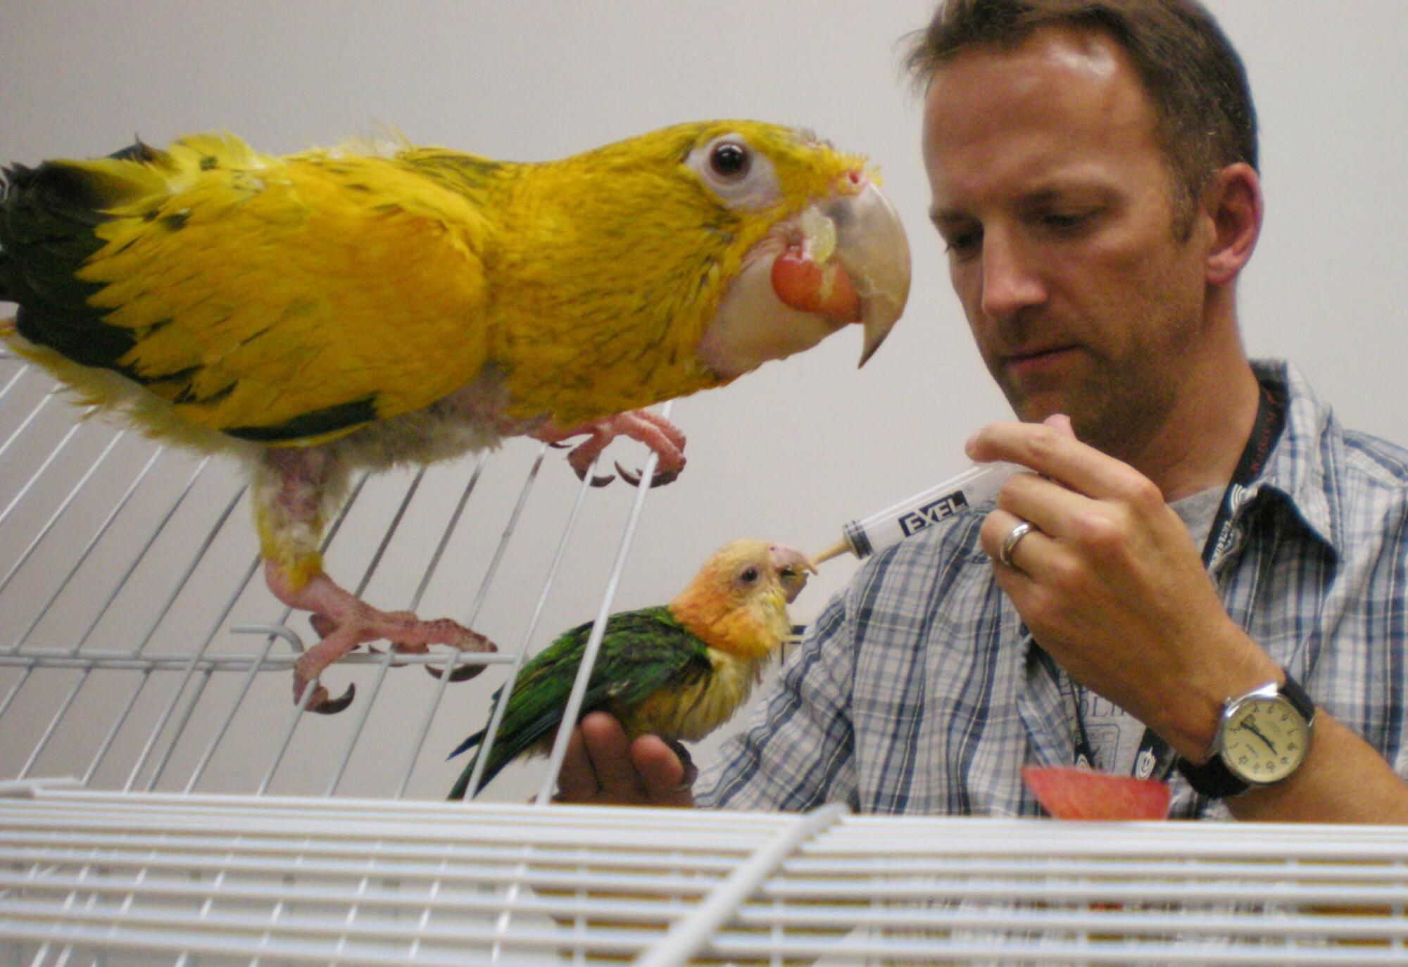
[[[1315,702],[1290,671],[1281,671],[1286,684],[1280,688],[1270,681],[1226,700],[1205,763],[1178,757],[1178,771],[1194,790],[1222,799],[1252,785],[1280,783],[1305,761]]]

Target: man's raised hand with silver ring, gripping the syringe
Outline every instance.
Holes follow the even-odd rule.
[[[1197,760],[1228,695],[1280,678],[1153,481],[1079,442],[1069,419],[991,424],[967,452],[1036,472],[1004,484],[981,542],[997,562],[1012,528],[1032,524],[1011,566],[994,563],[997,583],[1076,681]]]

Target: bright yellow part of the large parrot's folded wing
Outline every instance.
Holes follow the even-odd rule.
[[[161,191],[110,213],[79,274],[104,284],[92,304],[137,336],[121,362],[176,415],[275,426],[367,401],[391,417],[479,372],[487,225],[462,194],[396,159],[228,138],[166,158],[148,166]]]

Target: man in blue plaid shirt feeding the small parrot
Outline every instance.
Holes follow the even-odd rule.
[[[1167,777],[1180,816],[1408,822],[1408,453],[1246,359],[1236,53],[1191,0],[950,0],[911,65],[950,279],[1025,421],[967,450],[1033,473],[863,567],[698,804],[1035,814],[1021,767],[1084,760]],[[563,798],[691,802],[653,738],[573,745]]]

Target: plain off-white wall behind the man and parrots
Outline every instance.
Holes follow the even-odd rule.
[[[1408,3],[1211,6],[1246,59],[1263,131],[1267,220],[1240,293],[1249,350],[1294,359],[1346,424],[1408,442]],[[855,366],[859,332],[848,332],[676,404],[690,466],[646,504],[618,595],[618,607],[635,607],[669,598],[735,536],[821,549],[843,519],[955,473],[966,436],[1008,415],[925,218],[919,104],[897,41],[928,13],[928,0],[4,0],[0,160],[100,155],[134,135],[161,145],[207,128],[282,153],[379,122],[417,142],[543,159],[708,117],[810,125],[869,153],[911,235],[905,318],[865,370]],[[638,460],[638,450],[618,452]],[[574,483],[562,466],[543,470],[560,507]],[[629,491],[608,491],[597,500],[624,512]],[[604,571],[614,533],[589,528],[545,632],[594,612],[589,577]],[[548,548],[553,535],[524,539]],[[810,619],[852,570],[849,559],[828,564],[794,617]],[[504,583],[484,621],[531,608],[536,593]],[[489,685],[458,688],[434,747],[482,722],[474,702]],[[48,764],[63,771],[61,760]],[[414,788],[435,795],[452,773],[428,771]],[[524,778],[490,791],[517,798],[527,788]]]

